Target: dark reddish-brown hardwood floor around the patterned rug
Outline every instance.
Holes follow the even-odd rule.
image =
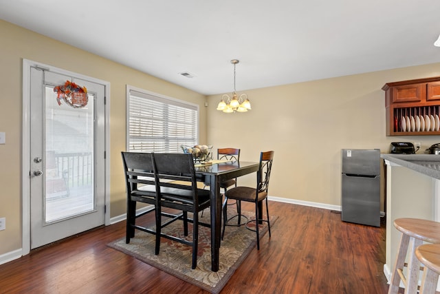
[[[263,236],[221,293],[388,291],[384,224],[350,224],[340,213],[281,202],[269,209],[279,217],[272,238]],[[100,227],[2,264],[0,293],[207,293],[107,246],[124,233],[125,222]]]

